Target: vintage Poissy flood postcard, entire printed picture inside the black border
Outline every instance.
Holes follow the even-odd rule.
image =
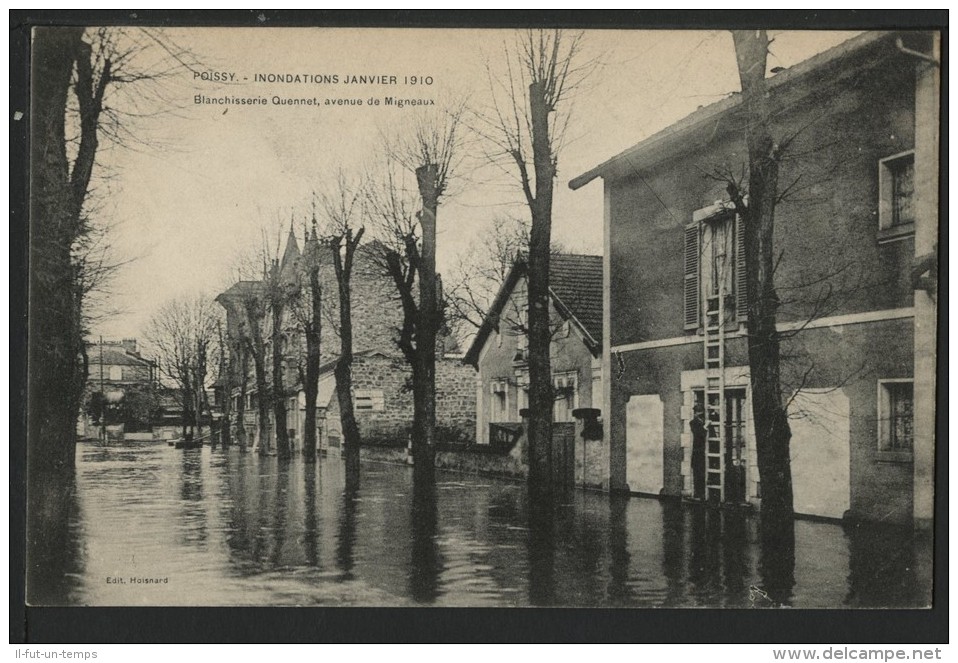
[[[939,33],[31,57],[29,605],[932,606]]]

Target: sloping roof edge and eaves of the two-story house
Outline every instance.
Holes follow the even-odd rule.
[[[865,57],[866,51],[871,52],[870,47],[881,46],[883,42],[891,44],[891,36],[895,34],[898,33],[875,31],[866,32],[849,39],[768,78],[768,90],[770,93],[777,89],[786,90],[810,78],[819,80],[825,75],[826,70],[853,62],[850,56]],[[695,134],[696,131],[706,130],[706,128],[711,134],[714,130],[720,128],[717,124],[720,118],[726,117],[728,113],[732,113],[741,105],[742,95],[740,92],[735,92],[721,101],[699,108],[694,113],[620,152],[595,168],[572,178],[569,181],[569,188],[579,189],[597,177],[607,177],[621,172],[623,169],[628,172],[654,163],[659,159],[674,156],[674,146],[677,140],[687,138],[689,135]]]

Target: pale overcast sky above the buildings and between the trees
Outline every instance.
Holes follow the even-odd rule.
[[[380,151],[379,131],[401,120],[394,106],[240,106],[195,104],[208,97],[440,100],[450,91],[470,104],[489,100],[486,62],[503,65],[500,30],[177,29],[168,32],[210,72],[234,83],[194,80],[183,70],[163,89],[168,113],[138,120],[145,145],[104,148],[111,173],[100,218],[115,224],[119,273],[116,315],[92,330],[105,338],[140,337],[165,301],[224,289],[236,256],[261,242],[262,229],[288,230],[310,213],[312,192],[339,168],[358,172]],[[769,67],[789,67],[844,41],[848,32],[775,34]],[[598,69],[575,99],[570,138],[559,157],[553,237],[583,253],[601,252],[602,185],[571,191],[568,181],[688,115],[738,90],[731,35],[723,31],[592,31],[588,57]],[[336,75],[338,84],[254,82],[256,74]],[[346,76],[396,76],[396,85],[344,84]],[[403,85],[405,76],[432,85]],[[245,80],[244,80],[245,79]],[[116,100],[115,103],[120,103]],[[142,110],[142,109],[141,109]],[[158,110],[158,109],[154,109]],[[458,256],[497,214],[528,218],[521,192],[482,164],[481,148],[463,165],[454,196],[439,211],[439,267]],[[283,237],[285,237],[285,231]]]

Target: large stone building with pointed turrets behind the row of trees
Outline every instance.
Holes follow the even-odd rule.
[[[412,423],[411,371],[396,344],[402,324],[402,310],[398,294],[390,277],[385,274],[379,259],[383,247],[378,242],[361,245],[356,251],[351,278],[353,328],[353,402],[357,423],[364,444],[404,444]],[[322,449],[339,449],[342,428],[339,422],[339,402],[333,371],[340,350],[339,296],[333,256],[315,234],[307,239],[304,250],[292,230],[286,240],[283,257],[273,269],[292,286],[305,283],[308,261],[319,262],[320,282],[323,288],[323,321],[320,368],[317,439]],[[217,297],[227,311],[227,334],[237,338],[243,326],[248,329],[244,302],[262,298],[263,281],[240,281]],[[270,316],[265,308],[262,320],[264,338],[269,338]],[[303,439],[306,397],[300,369],[305,358],[306,344],[302,321],[294,311],[287,310],[283,329],[283,363],[286,374],[287,426],[290,439],[298,445]],[[445,352],[448,340],[437,359],[437,426],[444,439],[471,440],[475,430],[475,393],[472,371],[462,365],[459,355]],[[452,348],[453,350],[455,348]],[[267,353],[271,352],[267,343]],[[241,383],[241,369],[232,363],[233,411],[236,411]],[[252,362],[250,362],[252,364]],[[272,365],[266,360],[267,367]],[[245,393],[246,414],[243,425],[250,440],[256,440],[257,398],[252,365],[248,366]],[[258,443],[258,441],[256,441]]]

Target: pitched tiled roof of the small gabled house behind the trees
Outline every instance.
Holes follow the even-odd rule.
[[[463,358],[465,363],[473,366],[478,364],[480,350],[496,329],[496,320],[527,270],[528,265],[523,258],[516,260],[509,270]],[[578,325],[584,332],[589,350],[598,356],[602,349],[602,256],[553,254],[549,260],[549,291],[559,314]]]

